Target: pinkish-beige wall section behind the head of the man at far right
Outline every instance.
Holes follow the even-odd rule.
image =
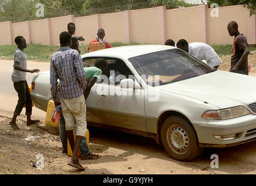
[[[219,17],[212,17],[212,10],[208,9],[209,44],[233,44],[234,38],[230,37],[227,32],[227,24],[233,20],[238,23],[240,33],[247,37],[248,42],[250,44],[256,44],[251,37],[248,37],[250,15],[247,8],[244,8],[243,5],[219,8]]]

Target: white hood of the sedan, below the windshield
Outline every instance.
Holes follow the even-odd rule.
[[[200,99],[220,109],[256,102],[255,77],[221,70],[155,88]]]

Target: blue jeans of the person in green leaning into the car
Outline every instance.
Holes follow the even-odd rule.
[[[61,137],[62,147],[67,148],[67,134],[66,134],[66,126],[65,119],[61,113],[59,116],[59,135]],[[74,130],[76,133],[76,129]],[[89,148],[86,142],[86,137],[83,138],[80,145],[80,154],[81,156],[86,156],[89,153]]]

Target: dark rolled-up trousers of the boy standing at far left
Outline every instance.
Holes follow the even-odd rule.
[[[26,115],[31,116],[32,114],[32,99],[30,97],[29,86],[27,81],[19,81],[13,83],[13,86],[18,93],[19,100],[17,102],[14,114],[19,116],[22,112],[23,106],[26,104]]]

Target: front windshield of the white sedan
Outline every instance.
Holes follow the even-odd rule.
[[[216,70],[180,49],[148,53],[130,58],[129,61],[145,83],[152,87],[187,80]]]

